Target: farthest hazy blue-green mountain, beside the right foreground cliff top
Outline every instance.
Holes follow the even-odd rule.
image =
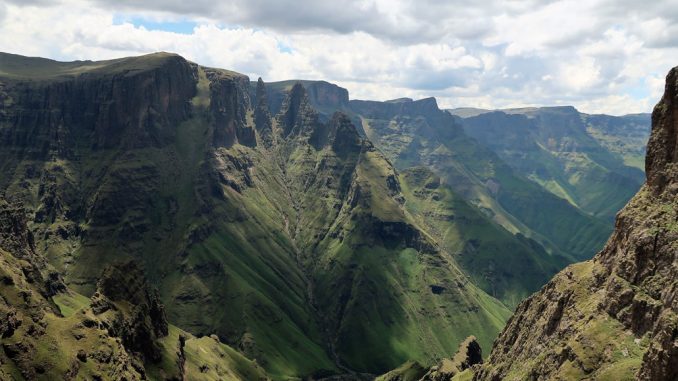
[[[638,163],[649,114],[612,117],[543,107],[484,112],[462,124],[511,168],[602,219],[612,220],[643,181]]]

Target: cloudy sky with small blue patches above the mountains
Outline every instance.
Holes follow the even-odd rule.
[[[441,108],[650,112],[678,65],[678,0],[0,0],[0,51],[175,52],[264,81]]]

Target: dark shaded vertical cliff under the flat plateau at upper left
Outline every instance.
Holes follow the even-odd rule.
[[[8,94],[22,107],[0,115],[2,146],[33,159],[73,158],[83,143],[94,149],[166,144],[169,127],[190,111],[195,79],[186,60],[170,56],[150,70],[132,65],[110,74],[18,82]]]

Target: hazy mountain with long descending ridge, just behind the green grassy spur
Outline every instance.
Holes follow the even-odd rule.
[[[486,216],[538,241],[555,256],[593,255],[611,229],[521,176],[468,136],[433,98],[398,104],[351,101],[350,106],[366,135],[397,168],[432,168]]]

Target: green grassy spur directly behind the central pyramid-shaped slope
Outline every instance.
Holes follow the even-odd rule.
[[[422,167],[401,174],[407,208],[419,217],[473,282],[510,307],[546,283],[567,260],[512,235],[469,205]],[[516,274],[520,274],[516,277]]]

